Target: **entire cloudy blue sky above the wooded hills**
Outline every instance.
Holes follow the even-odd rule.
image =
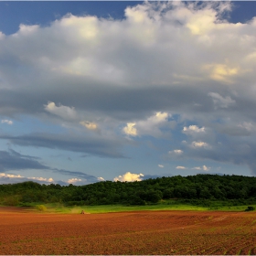
[[[256,175],[256,2],[0,1],[0,184]]]

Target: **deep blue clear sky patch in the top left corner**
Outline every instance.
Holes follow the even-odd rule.
[[[74,16],[99,16],[123,19],[123,10],[142,1],[0,1],[0,31],[11,35],[20,24],[48,27],[56,19]],[[12,19],[12,22],[5,22]]]

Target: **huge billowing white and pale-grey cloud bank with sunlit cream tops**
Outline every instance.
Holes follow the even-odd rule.
[[[15,57],[26,50],[28,67],[47,72],[45,79],[64,75],[74,89],[72,81],[80,78],[111,80],[129,87],[170,85],[176,76],[174,82],[184,77],[225,82],[240,75],[241,69],[248,69],[247,59],[251,63],[249,56],[255,53],[253,22],[239,26],[221,20],[222,9],[229,9],[228,5],[147,2],[127,7],[122,22],[67,15],[48,27],[22,25],[16,37],[3,37],[1,42],[10,45]],[[51,44],[42,48],[46,41]],[[129,54],[130,50],[136,56]],[[193,65],[187,59],[193,59]],[[159,63],[165,65],[159,69]],[[64,79],[61,81],[63,85]],[[59,80],[56,87],[61,90]]]

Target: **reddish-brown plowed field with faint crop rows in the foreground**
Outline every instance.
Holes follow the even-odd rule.
[[[253,212],[0,209],[0,254],[256,254]]]

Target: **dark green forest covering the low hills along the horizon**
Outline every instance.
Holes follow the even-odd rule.
[[[34,202],[66,206],[143,206],[169,199],[203,206],[217,200],[230,205],[255,204],[256,177],[163,176],[134,182],[101,181],[84,186],[40,185],[33,181],[0,185],[0,205],[5,206],[26,206]]]

